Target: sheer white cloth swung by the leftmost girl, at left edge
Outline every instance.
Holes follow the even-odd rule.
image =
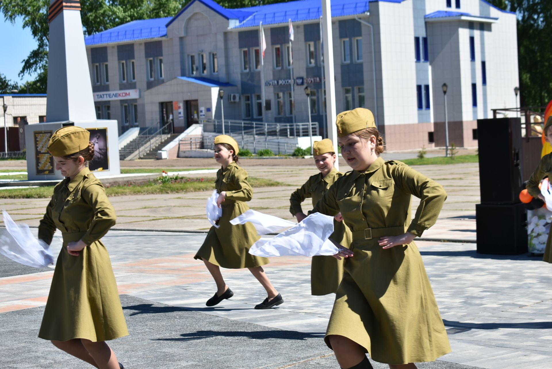
[[[15,224],[12,217],[3,210],[6,231],[0,235],[0,254],[23,265],[35,268],[46,267],[54,263],[50,246],[43,240],[37,240],[26,224]]]

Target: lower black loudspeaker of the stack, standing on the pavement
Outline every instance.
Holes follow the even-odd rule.
[[[525,204],[476,204],[477,252],[519,255],[527,252]]]

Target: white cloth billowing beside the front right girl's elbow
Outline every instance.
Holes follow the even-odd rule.
[[[259,235],[291,226],[288,230],[279,233],[273,238],[261,238],[251,246],[249,253],[256,256],[315,256],[335,255],[338,248],[328,237],[333,233],[333,217],[314,213],[302,220],[293,223],[289,220],[274,217],[248,210],[230,220],[233,225],[251,222]]]

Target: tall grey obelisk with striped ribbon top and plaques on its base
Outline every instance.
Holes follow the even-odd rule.
[[[89,168],[97,177],[120,175],[119,132],[116,120],[96,118],[88,69],[81,2],[52,0],[48,51],[46,123],[25,126],[27,175],[30,181],[62,180],[46,149],[50,136],[66,125],[90,131],[94,160]]]

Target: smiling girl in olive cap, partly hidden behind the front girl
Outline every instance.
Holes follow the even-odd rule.
[[[337,178],[343,176],[333,166],[336,162],[336,151],[333,149],[333,143],[330,139],[324,139],[322,141],[314,141],[312,145],[314,152],[314,161],[316,167],[320,173],[311,176],[309,180],[296,189],[291,194],[289,202],[291,204],[289,211],[297,218],[297,222],[306,218],[306,214],[303,213],[301,203],[306,198],[312,199],[312,205],[314,206],[321,198],[322,195],[328,191],[328,188],[337,180]],[[331,235],[332,240],[338,244],[345,245],[346,247],[351,244],[351,231],[347,228],[343,222],[343,218],[338,214],[336,220],[333,222],[333,233]],[[332,256],[314,256],[311,263],[311,294],[312,295],[325,295],[328,293],[334,293],[337,290],[337,286],[341,283],[343,277],[343,260],[337,260]]]

